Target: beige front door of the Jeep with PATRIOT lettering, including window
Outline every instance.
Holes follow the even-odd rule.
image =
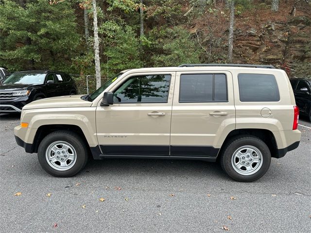
[[[114,103],[96,110],[106,155],[169,155],[175,72],[129,74],[112,87]]]

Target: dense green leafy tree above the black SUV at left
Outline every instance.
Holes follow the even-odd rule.
[[[68,1],[50,5],[34,0],[25,8],[12,0],[0,4],[0,63],[10,70],[68,70],[80,44],[74,10]]]

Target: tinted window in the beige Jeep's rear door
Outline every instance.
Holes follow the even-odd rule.
[[[225,74],[180,75],[179,102],[227,101]]]

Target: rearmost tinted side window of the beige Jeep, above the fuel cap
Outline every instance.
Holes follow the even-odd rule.
[[[276,78],[271,74],[239,74],[239,91],[242,102],[279,101]]]

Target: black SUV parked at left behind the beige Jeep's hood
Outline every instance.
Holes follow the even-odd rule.
[[[11,74],[0,84],[0,113],[21,112],[27,103],[54,96],[75,95],[69,76],[54,70],[27,70]]]

